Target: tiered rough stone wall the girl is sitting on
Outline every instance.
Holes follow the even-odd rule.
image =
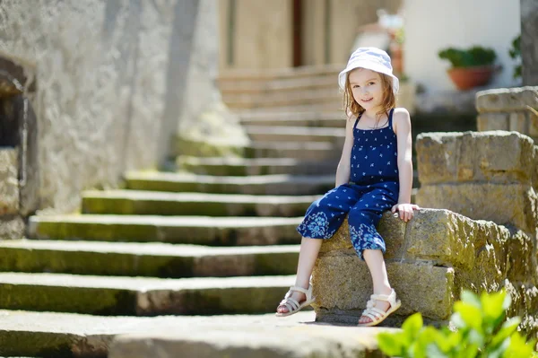
[[[521,328],[536,336],[538,147],[503,131],[426,133],[416,147],[421,210],[409,223],[386,213],[378,227],[388,278],[402,301],[387,324],[414,312],[447,323],[462,289],[504,287],[513,299],[508,315],[523,317]],[[312,283],[317,320],[357,322],[372,283],[347,222],[322,244]]]

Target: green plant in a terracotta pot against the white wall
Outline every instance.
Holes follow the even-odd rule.
[[[469,90],[489,83],[496,70],[494,62],[497,55],[492,48],[444,48],[439,51],[438,56],[452,65],[447,73],[460,90]]]

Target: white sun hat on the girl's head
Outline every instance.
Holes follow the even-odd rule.
[[[338,85],[344,90],[345,79],[348,72],[355,68],[366,68],[372,71],[376,71],[380,74],[388,74],[393,78],[393,92],[398,93],[400,88],[400,82],[398,77],[392,73],[392,65],[390,63],[390,57],[385,51],[379,48],[357,48],[351,54],[348,64],[345,69],[338,74]]]

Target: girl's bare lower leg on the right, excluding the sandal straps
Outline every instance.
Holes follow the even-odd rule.
[[[365,249],[363,252],[364,260],[368,265],[370,275],[372,275],[372,283],[374,284],[374,294],[390,294],[392,288],[388,283],[386,275],[385,259],[380,249]],[[387,301],[376,301],[375,307],[379,310],[388,310],[390,304]],[[362,316],[359,323],[369,323],[372,320],[369,317]]]

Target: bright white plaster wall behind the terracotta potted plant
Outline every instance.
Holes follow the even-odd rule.
[[[447,75],[449,63],[438,58],[447,47],[490,47],[502,72],[490,87],[517,85],[516,63],[508,56],[521,31],[519,0],[405,0],[404,72],[429,92],[456,91]]]

